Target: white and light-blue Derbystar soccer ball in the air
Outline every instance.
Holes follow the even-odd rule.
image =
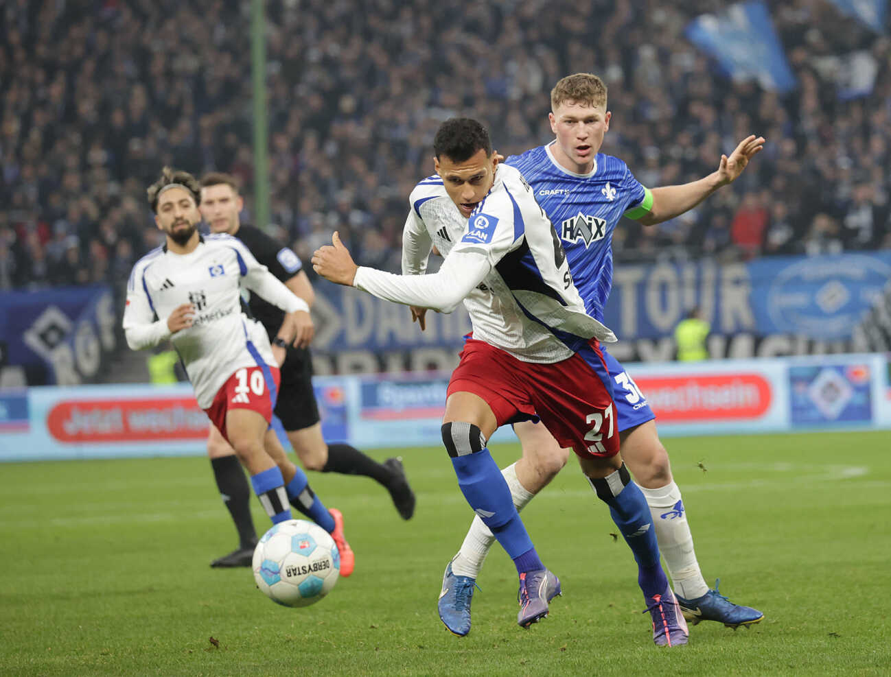
[[[307,607],[331,592],[340,575],[340,553],[331,534],[304,519],[273,526],[254,550],[254,580],[284,607]]]

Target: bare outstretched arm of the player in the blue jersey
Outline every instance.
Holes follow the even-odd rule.
[[[655,225],[675,216],[681,216],[722,186],[736,181],[748,165],[748,161],[763,148],[764,137],[750,135],[740,141],[730,157],[721,156],[721,162],[715,172],[699,179],[699,181],[654,188],[651,191],[653,203],[650,211],[641,216],[638,221],[643,225]]]

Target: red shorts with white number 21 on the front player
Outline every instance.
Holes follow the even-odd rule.
[[[518,360],[500,348],[468,338],[452,372],[448,395],[486,400],[498,425],[537,416],[560,443],[581,457],[618,453],[616,407],[600,344],[592,339],[562,362]]]

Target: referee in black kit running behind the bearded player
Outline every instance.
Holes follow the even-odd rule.
[[[214,172],[201,179],[201,216],[211,232],[227,232],[237,237],[261,264],[309,306],[315,293],[303,271],[300,259],[291,249],[282,247],[259,228],[241,224],[239,214],[244,205],[238,183],[232,175]],[[278,338],[284,314],[276,306],[251,295],[250,313],[262,322],[269,334],[273,354],[282,365],[282,383],[279,387],[275,415],[282,421],[291,446],[307,470],[339,472],[343,475],[364,475],[384,485],[404,519],[414,513],[414,493],[408,485],[402,461],[390,458],[383,463],[374,461],[356,447],[325,443],[322,423],[315,404],[312,384],[312,359],[306,347],[295,348]],[[211,562],[211,567],[249,567],[257,544],[257,533],[250,517],[248,481],[241,464],[213,425],[208,434],[208,456],[217,478],[217,487],[226,508],[232,513],[240,539],[237,550]]]

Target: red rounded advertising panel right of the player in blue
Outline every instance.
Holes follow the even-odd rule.
[[[757,419],[771,406],[770,381],[756,373],[636,377],[657,420]]]

